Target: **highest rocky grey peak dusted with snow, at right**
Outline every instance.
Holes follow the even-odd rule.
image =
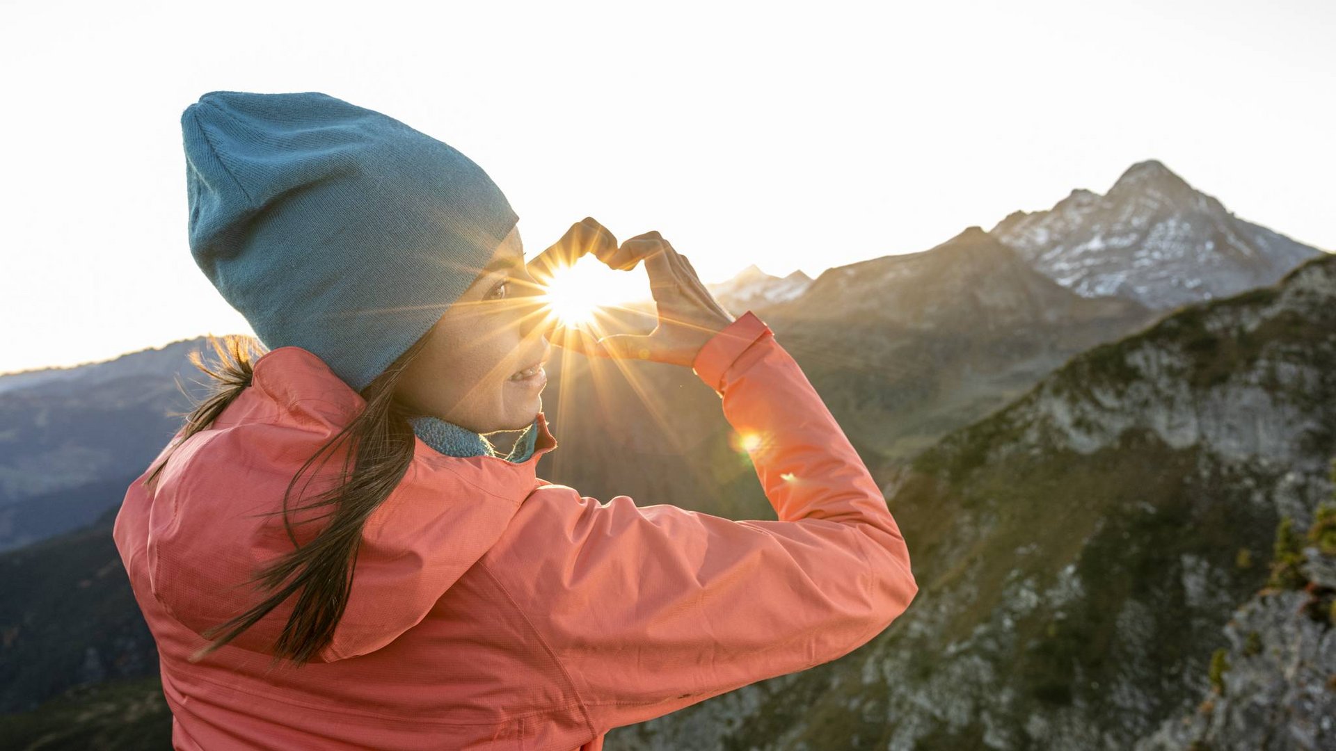
[[[990,234],[1077,294],[1154,310],[1275,283],[1323,253],[1238,219],[1153,159],[1129,167],[1106,195],[1074,190]]]

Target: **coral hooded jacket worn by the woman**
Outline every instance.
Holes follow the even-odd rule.
[[[270,671],[285,604],[191,663],[207,643],[199,632],[259,600],[240,583],[293,549],[282,516],[263,512],[282,508],[301,464],[365,405],[310,351],[262,355],[253,384],[151,486],[146,470],[116,517],[174,746],[596,751],[613,727],[871,640],[918,587],[844,433],[749,311],[693,371],[732,428],[755,436],[745,445],[776,521],[599,502],[540,480],[534,465],[557,446],[541,414],[520,464],[418,440],[366,524],[347,609],[318,661]]]

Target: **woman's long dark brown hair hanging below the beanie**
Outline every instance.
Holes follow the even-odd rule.
[[[216,365],[206,363],[198,351],[191,351],[188,357],[195,367],[212,378],[211,390],[192,405],[186,416],[180,440],[172,450],[186,438],[208,428],[227,405],[251,385],[253,358],[267,351],[250,337],[227,335],[218,339],[210,335],[208,343],[218,355]],[[413,460],[414,437],[413,428],[407,422],[410,413],[394,398],[394,388],[403,369],[425,343],[426,337],[422,337],[362,389],[361,396],[366,400],[366,408],[326,441],[293,476],[283,493],[282,510],[270,513],[283,514],[283,527],[295,549],[247,581],[262,583],[270,595],[248,611],[204,631],[202,636],[212,641],[191,655],[191,661],[199,661],[227,644],[294,593],[297,605],[274,644],[274,663],[289,659],[297,665],[305,665],[334,637],[334,628],[347,607],[362,527],[399,484]],[[293,488],[302,474],[313,466],[319,470],[345,444],[347,452],[338,482],[309,504],[295,506],[295,510],[331,506],[327,513],[317,517],[331,518],[313,540],[306,545],[298,545],[289,516]],[[154,468],[146,482],[158,478],[171,453],[168,452]],[[219,633],[222,636],[218,636]],[[214,639],[215,636],[218,639]]]

